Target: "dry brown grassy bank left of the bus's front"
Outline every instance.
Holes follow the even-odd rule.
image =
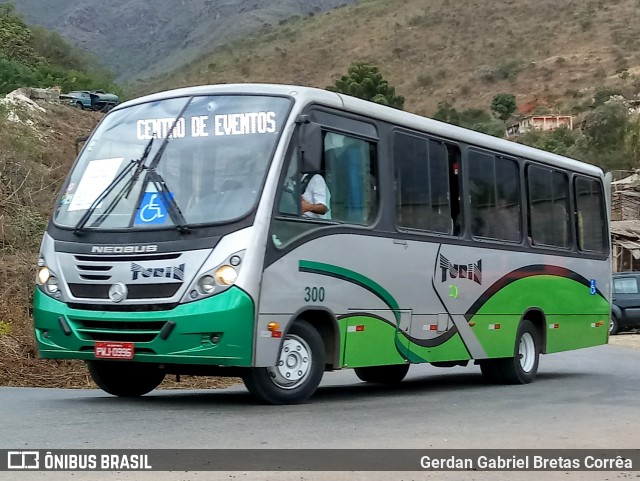
[[[36,358],[31,296],[40,240],[75,157],[74,139],[100,115],[59,105],[41,111],[0,99],[0,386],[87,383],[74,363]]]

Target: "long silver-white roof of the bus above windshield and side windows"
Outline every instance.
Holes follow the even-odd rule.
[[[481,148],[491,149],[507,155],[525,157],[531,160],[544,162],[546,164],[562,167],[570,171],[602,177],[603,171],[586,162],[582,162],[569,157],[553,154],[544,150],[518,144],[505,139],[500,139],[491,135],[476,132],[474,130],[458,127],[445,122],[440,122],[428,117],[412,114],[402,110],[376,104],[366,100],[350,97],[348,95],[330,92],[313,87],[302,87],[298,85],[285,84],[220,84],[202,85],[197,87],[186,87],[174,90],[167,90],[120,104],[116,109],[126,108],[145,102],[152,102],[174,97],[186,97],[190,95],[220,95],[220,94],[253,94],[253,95],[286,95],[296,99],[302,105],[317,103],[346,110],[353,113],[379,119],[392,124],[400,125],[410,129],[429,133],[443,139],[461,141]]]

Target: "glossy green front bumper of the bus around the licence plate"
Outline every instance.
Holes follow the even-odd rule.
[[[120,341],[134,342],[134,361],[243,367],[252,361],[254,304],[237,287],[150,312],[71,309],[36,289],[34,323],[43,358],[92,360],[95,341]]]

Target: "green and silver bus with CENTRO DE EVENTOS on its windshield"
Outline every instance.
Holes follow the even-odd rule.
[[[330,215],[301,215],[320,174]],[[598,167],[319,89],[214,85],[119,105],[85,142],[42,242],[44,358],[140,396],[239,376],[260,401],[323,373],[413,363],[528,383],[605,344]]]

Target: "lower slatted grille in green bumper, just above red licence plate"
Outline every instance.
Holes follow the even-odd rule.
[[[85,340],[151,342],[167,321],[96,321],[74,319],[76,331]]]

